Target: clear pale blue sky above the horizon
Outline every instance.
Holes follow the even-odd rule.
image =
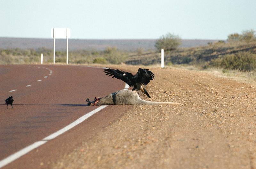
[[[256,0],[0,0],[0,37],[71,39],[227,39],[256,31]]]

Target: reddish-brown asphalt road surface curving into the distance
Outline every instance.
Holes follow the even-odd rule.
[[[41,81],[40,81],[41,80]],[[60,65],[0,65],[0,160],[42,140],[98,106],[85,99],[124,88],[101,68]],[[15,91],[14,91],[15,90]],[[12,92],[10,92],[12,91]],[[13,96],[13,109],[4,100]],[[118,106],[116,106],[118,107]],[[76,140],[90,138],[121,116],[128,106],[108,106],[59,137],[6,165],[6,168],[47,167],[73,150]]]

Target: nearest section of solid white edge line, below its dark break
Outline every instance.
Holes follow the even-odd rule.
[[[14,154],[2,159],[0,161],[0,168],[3,167],[4,165],[7,165],[9,163],[11,163],[12,161],[20,158],[21,156],[27,154],[29,151],[39,147],[40,145],[46,143],[47,141],[44,141],[44,140],[41,140],[41,141],[37,141],[31,145],[29,145],[28,147],[25,147],[23,149],[21,149],[20,151],[18,152],[15,152]]]

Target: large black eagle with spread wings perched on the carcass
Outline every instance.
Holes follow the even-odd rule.
[[[129,72],[124,72],[118,69],[104,68],[104,73],[106,75],[112,76],[112,78],[115,77],[117,79],[124,81],[129,86],[133,87],[132,90],[141,90],[144,94],[150,97],[147,90],[142,86],[147,85],[150,80],[154,80],[155,78],[155,74],[153,74],[148,69],[139,68],[138,72],[135,75],[133,75]]]

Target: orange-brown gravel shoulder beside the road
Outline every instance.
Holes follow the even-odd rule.
[[[138,67],[122,69],[135,72]],[[139,93],[140,97],[182,106],[131,106],[118,121],[52,167],[256,167],[254,87],[205,72],[150,70],[156,75],[147,85],[151,98]]]

